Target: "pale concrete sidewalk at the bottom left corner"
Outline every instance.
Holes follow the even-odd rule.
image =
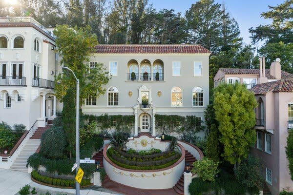
[[[75,189],[61,189],[43,186],[33,182],[30,174],[12,171],[8,169],[0,169],[0,195],[16,195],[24,185],[35,187],[37,192],[46,193],[49,191],[52,195],[67,194],[75,195]],[[38,193],[39,194],[39,193]],[[90,187],[81,189],[81,195],[118,195],[102,187]]]

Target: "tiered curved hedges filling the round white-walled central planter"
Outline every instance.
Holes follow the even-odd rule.
[[[126,156],[123,156],[123,155],[126,155]],[[142,158],[145,156],[127,154],[118,149],[109,148],[107,151],[107,156],[115,164],[127,169],[154,170],[154,169],[166,168],[174,164],[181,157],[181,154],[179,152],[171,151],[171,152],[164,152],[161,154],[146,155],[146,156],[152,156],[152,158]],[[134,156],[137,156],[137,158]]]

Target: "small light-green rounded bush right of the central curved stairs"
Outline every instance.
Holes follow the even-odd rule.
[[[197,174],[203,181],[214,181],[215,175],[219,173],[218,164],[218,162],[204,158],[193,163],[194,167],[191,172]]]

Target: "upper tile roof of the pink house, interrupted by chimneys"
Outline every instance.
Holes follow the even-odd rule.
[[[259,69],[248,69],[248,68],[220,68],[225,74],[240,74],[240,75],[259,75]],[[270,69],[266,69],[266,77],[274,78],[270,75]],[[281,70],[281,78],[293,78],[293,75]]]

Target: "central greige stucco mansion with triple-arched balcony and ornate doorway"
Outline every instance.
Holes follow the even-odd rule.
[[[134,136],[156,135],[155,114],[204,119],[209,104],[209,50],[200,45],[97,45],[90,66],[103,63],[107,92],[88,97],[84,114],[134,115]]]

